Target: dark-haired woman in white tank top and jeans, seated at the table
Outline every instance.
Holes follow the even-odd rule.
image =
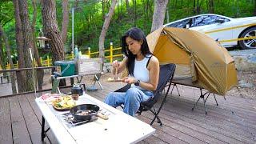
[[[105,102],[114,107],[123,104],[123,111],[134,116],[140,103],[153,96],[153,91],[157,89],[159,62],[151,54],[145,34],[138,28],[131,28],[122,36],[122,52],[126,58],[122,62],[112,63],[112,74],[121,73],[127,68],[129,76],[122,82],[131,84],[131,87],[125,93],[108,94]]]

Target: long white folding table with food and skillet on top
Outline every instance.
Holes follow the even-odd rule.
[[[42,140],[45,137],[44,122],[48,122],[55,138],[59,143],[135,143],[154,134],[155,129],[146,122],[131,117],[104,102],[88,94],[79,97],[79,104],[95,104],[101,110],[105,110],[108,120],[98,118],[93,122],[84,123],[79,126],[67,126],[60,119],[60,115],[69,111],[60,112],[54,110],[53,106],[36,98],[39,109],[42,112]]]

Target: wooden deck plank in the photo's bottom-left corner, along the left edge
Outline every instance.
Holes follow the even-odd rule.
[[[10,106],[7,98],[0,99],[0,143],[13,143]]]

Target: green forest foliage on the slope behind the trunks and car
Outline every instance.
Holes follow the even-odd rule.
[[[126,2],[129,2],[127,9]],[[166,8],[165,23],[186,18],[196,14],[209,13],[210,0],[170,0]],[[92,51],[98,51],[98,38],[102,31],[104,16],[110,8],[110,0],[70,0],[69,1],[69,26],[66,53],[71,50],[72,38],[72,14],[74,7],[74,44],[80,50],[85,51],[88,47]],[[38,17],[35,26],[36,35],[42,29],[42,14],[40,2],[37,1]],[[56,0],[58,26],[62,26],[62,1]],[[1,0],[0,24],[8,35],[12,55],[17,56],[15,43],[15,18],[12,1]],[[214,14],[222,14],[231,18],[254,16],[255,0],[214,0]],[[33,10],[29,1],[29,13],[32,21]],[[152,16],[154,13],[154,0],[118,0],[111,19],[110,27],[106,34],[105,47],[109,49],[110,42],[114,47],[120,46],[120,38],[130,27],[137,26],[146,34],[150,33]],[[168,14],[167,14],[168,13]],[[168,15],[168,16],[167,16]],[[2,44],[4,47],[4,44]],[[46,57],[46,54],[41,56]],[[15,61],[15,59],[14,59]]]

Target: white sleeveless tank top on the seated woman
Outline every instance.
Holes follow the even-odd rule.
[[[137,78],[141,82],[150,82],[150,71],[146,68],[146,63],[149,61],[151,55],[147,55],[142,60],[138,61],[135,58],[134,62],[134,78]],[[145,90],[140,86],[132,85],[133,87],[138,87],[138,89]]]

